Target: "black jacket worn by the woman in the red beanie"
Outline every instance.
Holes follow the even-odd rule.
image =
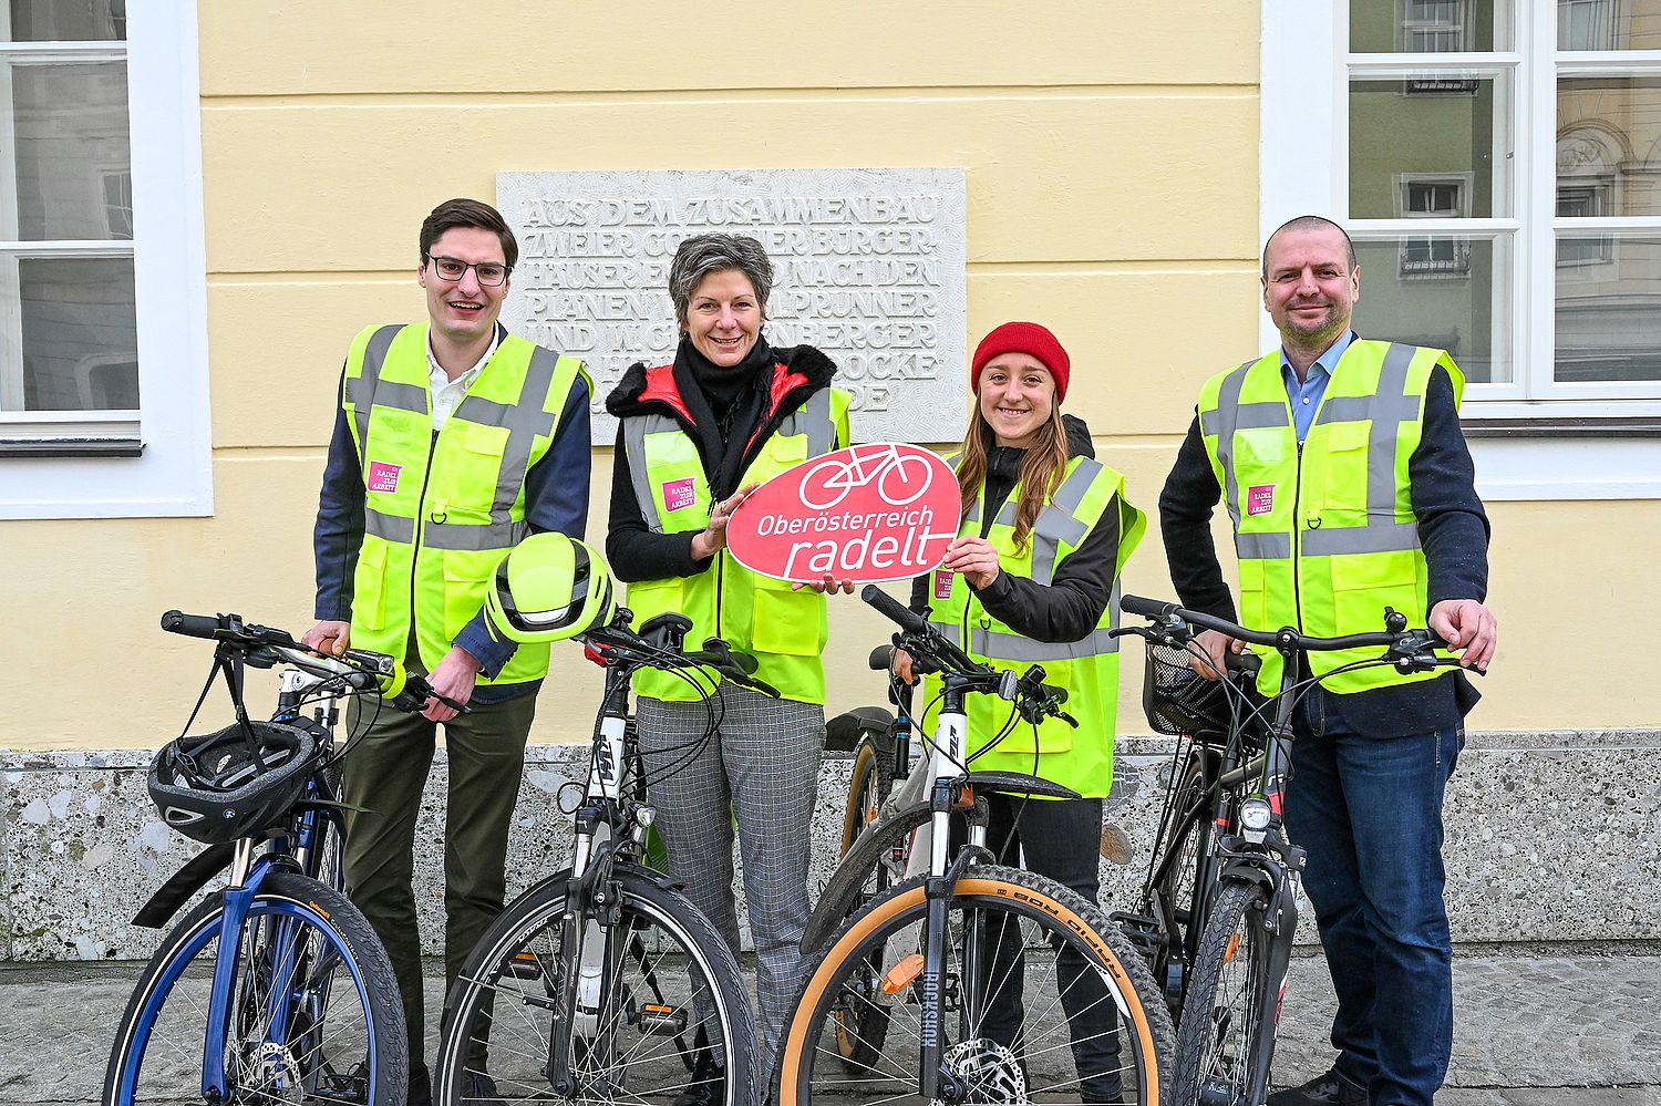
[[[1066,445],[1071,457],[1095,457],[1090,428],[1083,418],[1061,415],[1066,425]],[[1008,498],[1020,475],[1020,462],[1026,450],[998,448],[990,458],[987,473],[987,503],[997,505]],[[980,513],[980,536],[987,536],[997,507]],[[1090,531],[1085,543],[1055,570],[1055,580],[1045,586],[1010,573],[998,573],[990,586],[975,593],[987,613],[1015,633],[1033,641],[1078,641],[1101,621],[1113,593],[1113,576],[1120,560],[1120,507],[1115,498],[1101,513],[1101,521]],[[912,609],[922,613],[930,603],[933,573],[912,581]]]

